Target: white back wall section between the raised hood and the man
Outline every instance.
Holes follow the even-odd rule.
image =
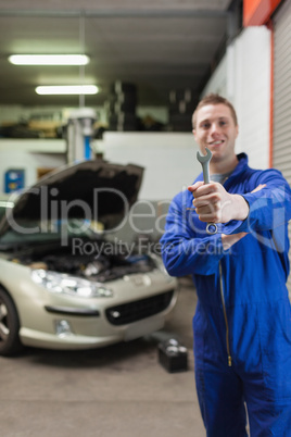
[[[191,133],[110,133],[98,142],[104,159],[146,168],[140,199],[172,199],[201,173]]]

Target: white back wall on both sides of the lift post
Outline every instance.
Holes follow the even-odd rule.
[[[168,201],[201,173],[191,133],[106,132],[92,146],[107,161],[144,167],[140,199]],[[58,139],[0,139],[0,192],[8,170],[24,168],[25,186],[29,186],[37,179],[38,167],[65,164],[65,141]]]

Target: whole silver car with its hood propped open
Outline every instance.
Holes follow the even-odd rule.
[[[113,238],[142,172],[84,161],[0,202],[1,355],[97,348],[164,326],[177,280],[159,254]]]

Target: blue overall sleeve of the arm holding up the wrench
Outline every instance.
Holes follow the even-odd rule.
[[[249,203],[249,215],[244,221],[230,221],[223,225],[224,234],[273,230],[286,225],[291,218],[291,190],[280,172],[258,172],[252,184],[252,189],[260,184],[266,184],[266,187],[256,192],[241,195]]]

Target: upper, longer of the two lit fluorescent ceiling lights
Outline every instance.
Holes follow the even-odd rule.
[[[12,54],[9,61],[15,65],[86,65],[86,54]]]

